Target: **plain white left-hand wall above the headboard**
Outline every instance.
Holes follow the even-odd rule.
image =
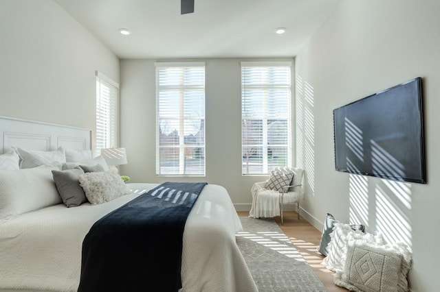
[[[0,115],[96,127],[95,71],[119,60],[49,0],[0,1]]]

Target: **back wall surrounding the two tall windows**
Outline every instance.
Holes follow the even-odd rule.
[[[276,60],[292,61],[294,65],[289,58]],[[237,209],[250,210],[250,188],[267,176],[241,175],[241,59],[195,60],[206,62],[204,178],[155,175],[155,61],[121,60],[120,137],[129,159],[129,164],[121,167],[121,173],[129,175],[132,182],[175,180],[220,184],[228,190]]]

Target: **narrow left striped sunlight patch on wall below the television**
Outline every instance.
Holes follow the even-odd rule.
[[[349,221],[369,226],[369,180],[362,175],[349,176]]]

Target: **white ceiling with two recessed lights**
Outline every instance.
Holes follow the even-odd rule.
[[[293,57],[342,0],[54,1],[119,58],[165,59]]]

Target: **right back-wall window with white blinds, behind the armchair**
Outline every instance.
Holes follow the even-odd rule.
[[[241,62],[242,173],[292,164],[290,62]]]

